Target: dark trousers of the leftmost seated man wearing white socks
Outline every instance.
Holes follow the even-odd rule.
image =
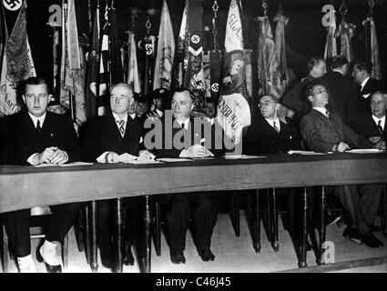
[[[63,243],[68,230],[73,226],[81,203],[69,203],[50,206],[52,216],[46,230],[46,240]],[[29,232],[30,209],[17,210],[4,214],[5,229],[15,256],[31,254],[31,240]]]

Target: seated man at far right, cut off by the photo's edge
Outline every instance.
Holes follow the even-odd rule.
[[[372,143],[387,140],[386,108],[387,94],[373,93],[370,97],[371,114],[366,113],[356,119],[352,129],[359,135],[367,137]]]

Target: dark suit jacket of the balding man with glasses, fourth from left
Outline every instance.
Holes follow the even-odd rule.
[[[300,149],[300,135],[292,125],[280,122],[280,133],[266,121],[260,120],[256,125],[250,126],[246,138],[243,139],[244,153],[276,154],[287,152],[290,149]]]

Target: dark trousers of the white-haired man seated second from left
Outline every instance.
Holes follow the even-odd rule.
[[[141,208],[141,197],[125,198],[123,206],[128,207],[125,220],[124,240],[134,245],[137,238],[138,215]],[[113,248],[114,206],[116,199],[97,201],[97,242],[101,256],[110,258]]]

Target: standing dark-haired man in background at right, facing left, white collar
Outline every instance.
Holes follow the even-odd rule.
[[[370,61],[359,59],[353,63],[352,78],[360,86],[361,95],[366,102],[367,111],[370,109],[370,96],[377,91],[384,92],[382,82],[372,78],[371,73],[372,63]]]

